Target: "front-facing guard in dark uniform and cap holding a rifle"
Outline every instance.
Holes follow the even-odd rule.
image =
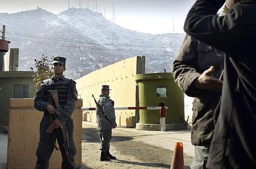
[[[52,58],[52,72],[54,75],[52,78],[41,82],[40,89],[37,91],[34,99],[34,107],[38,111],[44,111],[44,116],[40,123],[40,141],[36,151],[37,161],[35,169],[48,169],[56,138],[62,154],[62,169],[74,169],[76,165],[74,161],[74,156],[76,155],[76,147],[73,137],[74,124],[71,115],[76,106],[77,90],[76,82],[63,76],[63,72],[66,70],[65,64],[66,58],[60,56],[54,56]],[[57,89],[58,91],[59,104],[62,108],[62,113],[60,114],[58,114],[56,106],[54,104],[51,105],[49,101],[49,90],[54,89]],[[66,158],[66,152],[63,146],[64,138],[60,129],[64,121],[66,121],[66,125],[68,126],[68,138],[70,144],[70,147],[68,148],[69,161]],[[46,129],[51,123],[55,124],[55,129],[52,134],[46,132]]]

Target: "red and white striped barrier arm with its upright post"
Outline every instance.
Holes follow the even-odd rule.
[[[166,131],[165,128],[165,117],[166,117],[166,106],[159,106],[159,107],[114,107],[115,110],[160,110],[160,127],[161,131]],[[95,110],[96,108],[86,108],[82,107],[82,110]]]

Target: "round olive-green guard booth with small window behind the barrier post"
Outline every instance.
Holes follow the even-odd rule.
[[[137,74],[139,106],[167,106],[166,130],[186,129],[184,93],[174,82],[172,73]],[[140,110],[139,130],[160,130],[159,110]]]

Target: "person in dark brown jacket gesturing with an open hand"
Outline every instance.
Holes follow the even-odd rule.
[[[173,63],[174,81],[190,97],[194,97],[191,143],[195,157],[191,169],[206,169],[214,133],[214,109],[222,89],[224,52],[186,35]]]

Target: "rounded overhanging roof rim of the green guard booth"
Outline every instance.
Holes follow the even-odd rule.
[[[152,73],[152,74],[137,74],[135,81],[141,80],[159,80],[159,79],[174,79],[172,73]]]

